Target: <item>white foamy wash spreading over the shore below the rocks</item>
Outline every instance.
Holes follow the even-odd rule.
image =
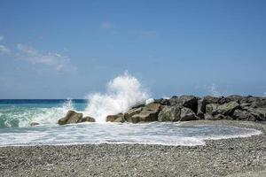
[[[206,140],[260,135],[261,131],[225,126],[183,127],[179,123],[149,124],[86,123],[60,127],[27,127],[16,131],[0,129],[0,146],[67,144],[160,144],[169,146],[204,145]]]

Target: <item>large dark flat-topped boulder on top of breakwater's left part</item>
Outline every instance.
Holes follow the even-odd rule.
[[[198,97],[196,96],[173,96],[169,100],[170,105],[179,105],[190,108],[193,112],[198,110]]]

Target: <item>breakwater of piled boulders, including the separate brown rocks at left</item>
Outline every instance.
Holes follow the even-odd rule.
[[[128,112],[109,115],[110,122],[188,121],[195,119],[266,120],[266,98],[256,96],[172,96],[139,104]],[[82,115],[69,111],[59,124],[84,121]],[[90,121],[90,120],[89,120]],[[95,121],[95,119],[93,119]]]

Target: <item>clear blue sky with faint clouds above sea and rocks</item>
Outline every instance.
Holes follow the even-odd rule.
[[[266,96],[266,1],[0,0],[0,99]]]

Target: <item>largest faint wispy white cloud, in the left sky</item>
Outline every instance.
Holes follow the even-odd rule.
[[[39,64],[51,66],[57,71],[69,71],[75,69],[75,67],[70,64],[70,59],[59,53],[43,53],[21,43],[19,43],[17,47],[19,50],[18,57],[27,60],[33,65]]]

